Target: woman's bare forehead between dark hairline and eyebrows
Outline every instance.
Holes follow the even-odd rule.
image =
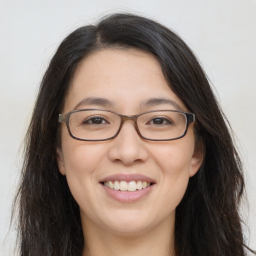
[[[138,49],[104,49],[81,61],[65,97],[64,111],[73,110],[84,98],[95,97],[111,101],[113,110],[122,113],[140,111],[141,102],[150,98],[170,99],[186,110],[168,86],[156,57]]]

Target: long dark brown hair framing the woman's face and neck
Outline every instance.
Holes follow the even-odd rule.
[[[204,160],[176,208],[176,254],[244,256],[248,248],[238,211],[244,189],[242,164],[208,79],[176,33],[151,19],[123,13],[70,33],[43,76],[14,202],[20,255],[81,255],[79,207],[56,163],[58,114],[77,65],[88,54],[106,48],[137,48],[153,54],[169,87],[196,116]]]

